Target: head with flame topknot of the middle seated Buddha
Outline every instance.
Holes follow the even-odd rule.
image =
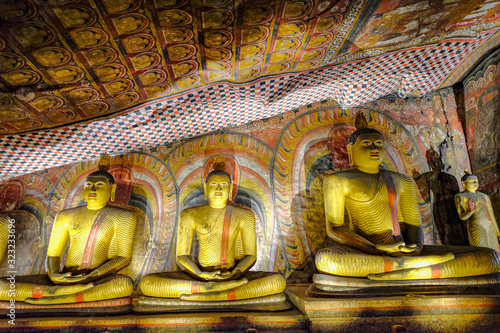
[[[210,172],[203,184],[205,200],[212,208],[224,208],[227,200],[231,198],[233,186],[231,175],[226,172],[226,162],[221,154],[214,157],[213,171]]]

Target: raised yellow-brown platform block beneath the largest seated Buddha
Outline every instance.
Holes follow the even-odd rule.
[[[312,332],[500,332],[498,292],[320,298],[307,296],[310,287],[288,286],[286,293]]]

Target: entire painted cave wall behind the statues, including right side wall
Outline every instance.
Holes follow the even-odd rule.
[[[497,213],[500,204],[497,58],[488,58],[464,81],[465,118],[457,106],[460,96],[452,88],[407,99],[390,95],[349,109],[327,100],[167,146],[112,156],[110,172],[118,189],[111,204],[139,215],[134,259],[123,272],[137,287],[148,273],[176,269],[180,212],[205,202],[202,176],[220,153],[233,173],[234,202],[257,216],[258,259],[253,269],[280,271],[289,281],[308,279],[314,270],[312,256],[328,243],[322,179],[349,167],[345,144],[354,131],[356,112],[365,112],[369,125],[386,139],[383,167],[415,179],[425,242],[445,242],[441,229],[449,239],[463,241],[463,224],[453,215],[453,195],[461,190],[464,170],[478,174]],[[46,272],[54,219],[63,209],[85,204],[83,183],[97,163],[77,162],[0,184],[0,211],[16,219],[17,244],[23,244],[18,246],[23,257],[18,275]]]

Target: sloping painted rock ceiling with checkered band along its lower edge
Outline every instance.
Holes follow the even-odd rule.
[[[492,0],[1,1],[0,175],[457,82]]]

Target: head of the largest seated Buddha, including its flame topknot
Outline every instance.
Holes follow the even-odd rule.
[[[384,137],[369,128],[364,113],[356,113],[356,131],[347,141],[349,164],[366,173],[378,173],[384,157]]]

